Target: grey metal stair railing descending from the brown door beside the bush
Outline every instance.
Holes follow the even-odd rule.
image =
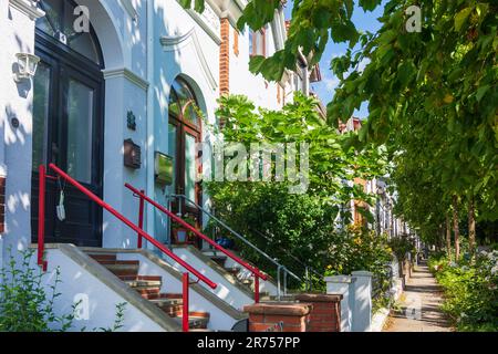
[[[169,205],[169,209],[170,209],[170,199],[179,199],[183,198],[186,202],[189,202],[190,205],[195,206],[198,210],[200,210],[201,212],[204,212],[205,215],[207,215],[210,219],[215,220],[218,225],[220,225],[221,227],[224,227],[226,230],[228,230],[231,235],[234,235],[235,237],[237,237],[239,240],[241,240],[243,243],[246,243],[247,246],[249,246],[251,249],[253,249],[256,252],[258,252],[259,254],[261,254],[262,257],[264,257],[267,260],[269,260],[272,264],[274,264],[277,267],[277,298],[280,300],[282,296],[282,281],[280,279],[280,273],[282,272],[283,274],[283,295],[287,295],[287,278],[288,275],[294,278],[297,281],[302,282],[302,279],[298,275],[295,275],[292,271],[290,271],[286,266],[279,263],[274,258],[272,258],[271,256],[269,256],[268,253],[266,253],[263,250],[261,250],[260,248],[258,248],[256,244],[253,244],[252,242],[250,242],[248,239],[246,239],[243,236],[241,236],[239,232],[235,231],[232,228],[230,228],[226,222],[224,222],[222,220],[220,220],[219,218],[217,218],[216,216],[212,215],[212,212],[210,212],[209,210],[207,210],[206,208],[203,208],[201,206],[199,206],[197,202],[195,202],[194,200],[189,199],[187,196],[185,195],[176,195],[176,194],[172,194],[168,196],[168,205]],[[181,204],[179,204],[181,205]],[[181,210],[179,211],[179,214],[181,214]]]

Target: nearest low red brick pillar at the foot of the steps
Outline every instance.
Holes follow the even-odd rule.
[[[249,313],[249,332],[308,332],[311,305],[258,303],[243,311]]]

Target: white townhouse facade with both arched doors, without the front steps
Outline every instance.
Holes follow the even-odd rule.
[[[206,119],[216,122],[217,98],[245,94],[257,105],[279,108],[298,80],[280,83],[249,72],[253,54],[283,48],[282,11],[252,32],[236,30],[245,0],[207,0],[199,14],[176,0],[2,0],[0,4],[0,244],[25,248],[35,236],[38,166],[54,163],[126,217],[136,218],[129,183],[166,204],[155,178],[155,155],[174,159],[175,191],[203,202],[193,180],[194,143],[209,140]],[[86,11],[86,12],[85,12]],[[84,29],[85,15],[90,19]],[[34,77],[19,76],[20,54],[35,54]],[[124,163],[124,152],[139,154]],[[71,187],[48,185],[51,242],[134,247],[133,231]],[[66,219],[55,207],[64,189]],[[100,209],[100,210],[98,210]],[[165,219],[146,209],[145,229],[162,241]],[[33,226],[33,227],[30,227]]]

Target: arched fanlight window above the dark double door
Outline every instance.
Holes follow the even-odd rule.
[[[84,14],[76,9],[75,2],[71,0],[41,0],[39,7],[45,12],[45,15],[37,20],[37,29],[94,63],[102,64],[100,45],[90,21],[89,31],[85,32],[84,29],[80,31],[81,17]]]

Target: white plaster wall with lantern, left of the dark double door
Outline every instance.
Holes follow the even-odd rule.
[[[30,195],[31,195],[31,135],[32,98],[31,81],[15,83],[13,64],[15,53],[34,52],[34,22],[24,13],[9,6],[0,4],[0,167],[7,176],[6,187],[6,232],[2,236],[3,258],[8,248],[25,249],[31,242]],[[19,119],[14,128],[11,119]]]

